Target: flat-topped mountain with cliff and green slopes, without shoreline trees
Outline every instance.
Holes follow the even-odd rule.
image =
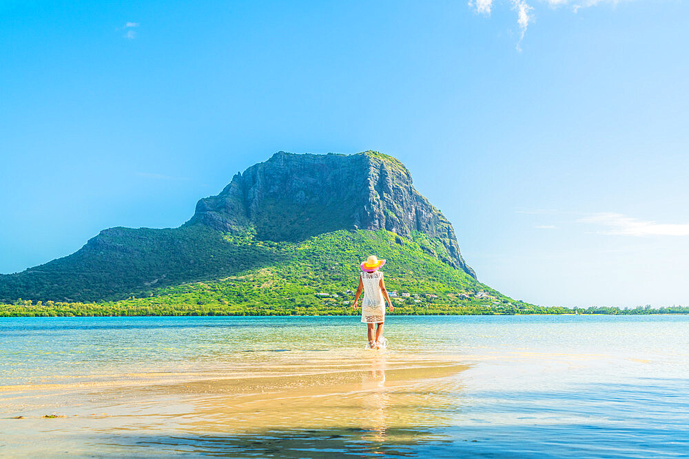
[[[400,161],[374,151],[280,151],[200,200],[178,228],[109,228],[72,255],[0,275],[0,301],[164,297],[198,282],[225,291],[237,279],[263,279],[263,290],[229,288],[218,301],[285,288],[308,295],[356,284],[358,263],[371,253],[388,259],[390,286],[506,298],[476,280],[452,225]]]

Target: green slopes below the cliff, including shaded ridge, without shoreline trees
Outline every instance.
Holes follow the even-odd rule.
[[[199,294],[194,301],[253,302],[291,310],[295,302],[313,306],[306,298],[317,292],[356,289],[359,263],[371,253],[388,259],[390,290],[435,295],[485,291],[507,299],[441,261],[446,248],[424,233],[407,238],[385,230],[340,230],[302,242],[272,242],[257,239],[253,229],[220,233],[202,225],[112,228],[74,255],[50,262],[57,266],[37,266],[17,277],[19,285],[3,284],[0,299],[12,303],[12,296],[21,295],[43,303],[113,303],[136,297],[153,303],[162,298],[169,304],[187,301],[178,295],[198,290],[202,282],[218,286],[217,294]],[[254,290],[245,279],[265,286]]]

